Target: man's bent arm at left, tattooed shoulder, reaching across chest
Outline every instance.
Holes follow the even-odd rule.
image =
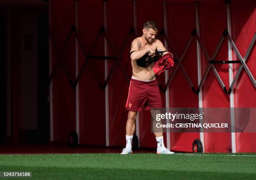
[[[140,50],[140,48],[141,48],[141,42],[138,39],[133,40],[133,42],[131,44],[131,51],[130,51],[131,60],[133,60],[133,61],[138,60],[143,55],[145,55],[147,52],[150,52],[151,54],[155,53],[151,47],[147,47],[143,50]]]

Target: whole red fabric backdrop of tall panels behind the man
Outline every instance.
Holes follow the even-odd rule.
[[[59,49],[64,45],[67,34],[75,23],[74,0],[57,1],[51,0],[51,14],[53,35]],[[92,44],[104,26],[104,2],[102,0],[78,1],[79,5],[79,37],[89,55]],[[227,7],[224,2],[208,3],[202,1],[200,7],[200,38],[208,55],[211,57],[222,37],[223,30],[227,28]],[[152,10],[148,13],[148,10]],[[123,43],[133,26],[133,1],[131,0],[108,0],[107,1],[107,26],[108,37],[113,51],[108,46],[108,55],[119,55]],[[243,14],[243,16],[241,16]],[[168,41],[174,47],[180,57],[184,51],[195,23],[195,2],[192,1],[167,1],[167,29]],[[255,3],[252,1],[232,1],[231,25],[232,37],[238,50],[244,56],[249,43],[255,32]],[[159,31],[164,28],[164,2],[154,1],[148,3],[146,0],[137,0],[137,25],[138,36],[146,20],[155,20],[159,25]],[[128,95],[128,79],[131,78],[131,62],[129,50],[134,36],[128,38],[123,54],[120,58],[125,73],[119,65],[113,71],[108,83],[109,88],[109,132],[110,146],[125,145],[125,123],[127,111],[125,101]],[[160,38],[162,42],[163,38]],[[228,60],[228,43],[224,40],[223,45],[215,60]],[[101,34],[96,42],[91,55],[104,56],[104,37]],[[253,64],[255,50],[248,57],[247,65],[255,77],[256,68]],[[75,80],[75,37],[74,34],[68,42],[67,49],[63,55],[64,65],[73,80]],[[53,64],[57,60],[56,52],[53,53]],[[82,69],[84,54],[79,47],[79,68]],[[236,56],[233,55],[233,60]],[[105,90],[101,89],[92,72],[97,72],[101,82],[104,82],[104,60],[90,60],[92,67],[87,63],[79,80],[79,133],[80,143],[85,145],[105,145]],[[115,60],[108,61],[110,73]],[[202,74],[208,65],[207,59],[201,50]],[[192,40],[187,53],[182,60],[189,78],[197,88],[197,56],[196,40]],[[229,87],[228,65],[215,65],[217,72],[225,86]],[[234,65],[234,75],[237,70]],[[169,70],[169,75],[172,70]],[[255,107],[255,88],[248,75],[241,72],[235,86],[235,107]],[[159,76],[159,82],[164,85],[164,74]],[[64,70],[59,65],[53,78],[54,97],[54,141],[66,142],[69,131],[75,130],[75,89],[69,85]],[[165,107],[165,93],[161,92],[162,105]],[[229,96],[225,94],[218,83],[215,75],[210,69],[209,74],[202,86],[203,107],[230,107]],[[169,85],[170,107],[198,107],[198,95],[192,92],[181,68],[177,70]],[[151,133],[150,111],[141,111],[140,115],[140,145],[142,147],[156,147],[154,134]],[[90,138],[89,138],[90,137]],[[93,141],[92,141],[93,137]],[[199,139],[199,133],[171,133],[172,150],[192,151],[192,142]],[[253,145],[255,133],[236,134],[238,152],[255,152]],[[205,133],[205,152],[231,152],[230,133]],[[165,138],[166,143],[166,138]]]

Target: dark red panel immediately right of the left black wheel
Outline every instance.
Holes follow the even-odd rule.
[[[79,1],[78,3],[79,37],[86,53],[87,55],[90,53],[90,55],[104,56],[103,34],[100,34],[98,40],[95,41],[100,28],[104,26],[103,1]],[[93,44],[95,47],[92,49]],[[80,71],[84,62],[85,56],[82,53],[82,48],[79,47]],[[104,60],[91,59],[90,62],[100,82],[104,82]],[[98,85],[92,68],[87,62],[79,80],[80,143],[105,145],[105,90]]]

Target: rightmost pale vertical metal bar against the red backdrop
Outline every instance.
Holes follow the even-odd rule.
[[[228,33],[231,36],[231,19],[230,19],[230,4],[227,3],[227,19],[228,19]],[[228,41],[228,60],[231,61],[232,58],[232,46],[230,41]],[[228,75],[229,75],[229,85],[233,82],[233,64],[228,64]],[[235,127],[235,115],[234,115],[234,92],[230,92],[230,120],[231,120],[231,145],[232,153],[236,153],[236,133],[234,133],[233,128]]]

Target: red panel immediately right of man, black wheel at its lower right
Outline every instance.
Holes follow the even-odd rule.
[[[195,3],[168,2],[168,37],[178,57],[182,56],[191,32],[196,27]],[[177,57],[175,57],[177,58]],[[176,63],[175,65],[178,65]],[[197,88],[197,55],[196,41],[192,40],[182,60],[182,65],[195,88]],[[169,75],[172,73],[169,71]],[[169,85],[170,107],[198,107],[196,95],[181,67],[178,67],[172,82]],[[192,143],[199,139],[199,133],[170,133],[171,149],[176,151],[192,151]]]

